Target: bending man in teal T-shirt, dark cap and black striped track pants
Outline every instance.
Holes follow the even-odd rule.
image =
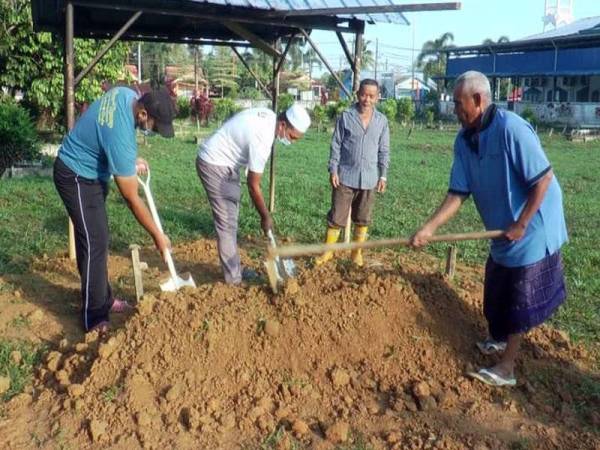
[[[132,89],[116,87],[92,103],[58,151],[54,184],[75,228],[85,331],[106,331],[109,313],[128,309],[125,301],[113,297],[108,282],[105,201],[111,176],[163,256],[170,245],[138,195],[137,172],[147,170],[147,163],[137,158],[135,129],[173,137],[174,117],[165,92],[153,91],[138,98]]]

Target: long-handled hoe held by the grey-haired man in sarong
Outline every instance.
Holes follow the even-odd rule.
[[[440,234],[432,236],[429,242],[455,242],[455,241],[467,241],[472,239],[497,239],[504,236],[504,231],[493,230],[483,231],[475,233],[457,233],[457,234]],[[399,239],[381,239],[378,241],[367,241],[367,242],[350,242],[347,244],[311,244],[311,245],[290,245],[286,247],[275,247],[274,245],[269,246],[267,261],[265,266],[267,267],[267,274],[269,275],[269,283],[274,293],[277,293],[278,285],[283,282],[283,277],[277,276],[277,260],[283,257],[292,256],[308,256],[321,254],[326,251],[342,251],[342,250],[356,250],[359,248],[377,248],[377,247],[392,247],[396,245],[410,245],[410,239],[399,238]]]

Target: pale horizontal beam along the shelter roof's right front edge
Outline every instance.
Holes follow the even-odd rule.
[[[385,14],[417,11],[448,11],[461,8],[461,2],[410,3],[406,5],[347,6],[340,8],[288,9],[269,11],[267,17],[336,16],[338,14]]]

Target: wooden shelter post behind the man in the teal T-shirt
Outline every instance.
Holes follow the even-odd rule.
[[[75,68],[73,49],[73,3],[65,5],[65,40],[64,40],[64,96],[65,125],[67,133],[75,125]],[[75,228],[69,219],[69,258],[75,259]]]

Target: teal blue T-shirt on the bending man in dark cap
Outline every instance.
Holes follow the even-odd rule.
[[[107,181],[135,175],[137,142],[133,118],[136,93],[116,87],[96,100],[65,137],[58,157],[77,175]]]

